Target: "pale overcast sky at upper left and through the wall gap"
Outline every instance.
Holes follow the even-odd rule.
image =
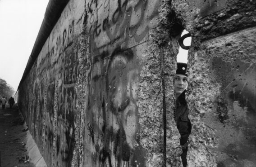
[[[0,78],[14,90],[22,78],[48,2],[0,0]],[[189,45],[190,41],[184,40],[184,44]],[[179,55],[177,62],[187,62],[187,51],[180,48]]]

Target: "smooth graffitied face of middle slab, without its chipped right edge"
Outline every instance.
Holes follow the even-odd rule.
[[[91,0],[87,3],[91,64],[86,109],[85,165],[145,166],[137,101],[140,55],[158,1]]]

